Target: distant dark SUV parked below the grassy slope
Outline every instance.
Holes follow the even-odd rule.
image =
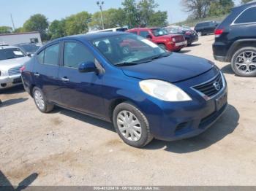
[[[205,21],[203,23],[197,23],[195,26],[195,31],[197,31],[198,36],[214,34],[214,31],[218,25],[219,23],[216,21]]]

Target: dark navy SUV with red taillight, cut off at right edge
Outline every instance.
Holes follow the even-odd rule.
[[[256,76],[256,2],[236,7],[215,31],[217,61],[231,62],[238,76]]]

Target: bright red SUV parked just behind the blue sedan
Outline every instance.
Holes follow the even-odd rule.
[[[173,52],[187,47],[187,41],[183,35],[170,34],[165,28],[133,28],[126,32],[143,36],[158,44],[159,47]]]

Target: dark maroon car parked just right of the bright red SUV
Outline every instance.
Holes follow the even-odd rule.
[[[182,34],[187,40],[187,44],[191,45],[193,42],[198,41],[197,32],[186,26],[167,26],[165,29],[170,34]]]

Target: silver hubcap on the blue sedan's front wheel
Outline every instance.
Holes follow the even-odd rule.
[[[137,117],[128,111],[121,111],[117,115],[117,125],[121,135],[129,141],[139,141],[142,130]]]

